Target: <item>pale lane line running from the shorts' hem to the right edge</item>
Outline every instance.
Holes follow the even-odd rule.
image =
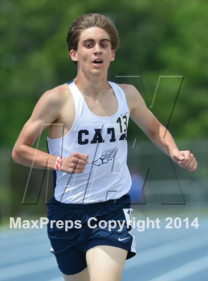
[[[162,258],[167,258],[175,254],[186,252],[199,248],[203,245],[207,245],[207,240],[205,235],[185,237],[180,240],[171,241],[165,244],[158,245],[154,248],[150,248],[144,251],[138,251],[137,255],[132,261],[127,261],[125,268],[133,268],[135,266],[140,266],[142,264],[150,263],[155,260]]]

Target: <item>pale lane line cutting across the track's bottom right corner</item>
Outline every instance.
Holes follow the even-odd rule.
[[[206,268],[208,268],[208,256],[204,256],[176,269],[168,271],[154,279],[151,279],[151,281],[179,281]]]

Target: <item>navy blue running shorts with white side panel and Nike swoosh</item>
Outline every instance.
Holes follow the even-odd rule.
[[[48,201],[48,236],[58,268],[66,275],[87,267],[86,251],[98,245],[128,250],[127,258],[136,255],[131,234],[131,198],[89,204],[66,204]]]

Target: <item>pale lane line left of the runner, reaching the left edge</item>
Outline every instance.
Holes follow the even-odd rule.
[[[4,281],[31,273],[43,272],[56,267],[57,265],[53,256],[50,258],[42,258],[36,261],[24,262],[1,269],[0,280]]]

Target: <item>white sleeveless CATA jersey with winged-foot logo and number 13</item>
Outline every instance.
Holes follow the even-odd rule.
[[[119,199],[131,188],[127,166],[127,127],[129,109],[123,90],[107,81],[117,98],[114,115],[100,117],[88,108],[74,80],[67,82],[75,103],[75,120],[63,137],[47,137],[48,151],[55,156],[72,153],[89,155],[89,163],[81,174],[53,171],[54,197],[70,204],[87,204]]]

